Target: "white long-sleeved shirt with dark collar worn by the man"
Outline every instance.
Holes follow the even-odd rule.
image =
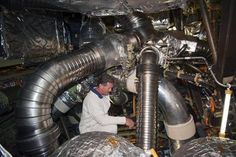
[[[125,124],[126,118],[109,116],[110,106],[109,96],[99,98],[97,94],[90,91],[83,101],[80,133],[105,131],[117,134],[117,124]]]

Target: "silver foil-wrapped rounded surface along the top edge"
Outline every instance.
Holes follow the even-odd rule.
[[[181,7],[187,0],[50,0],[48,3],[93,16],[126,15],[133,11],[156,13]]]

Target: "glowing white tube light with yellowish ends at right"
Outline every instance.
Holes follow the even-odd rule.
[[[222,138],[225,137],[225,130],[226,130],[227,119],[228,119],[228,114],[229,114],[231,94],[232,94],[232,90],[227,88],[225,90],[224,109],[223,109],[223,116],[221,120],[220,133],[219,133],[219,137],[222,137]]]

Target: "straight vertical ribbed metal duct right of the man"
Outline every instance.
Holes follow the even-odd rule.
[[[158,88],[158,54],[146,47],[137,67],[138,103],[136,144],[145,151],[156,148],[156,106]]]

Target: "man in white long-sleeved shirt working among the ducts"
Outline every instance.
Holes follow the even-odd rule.
[[[117,125],[134,126],[130,118],[109,116],[111,106],[109,93],[112,91],[114,80],[109,75],[102,75],[97,86],[90,90],[83,101],[83,109],[79,124],[80,133],[105,131],[116,134]]]

